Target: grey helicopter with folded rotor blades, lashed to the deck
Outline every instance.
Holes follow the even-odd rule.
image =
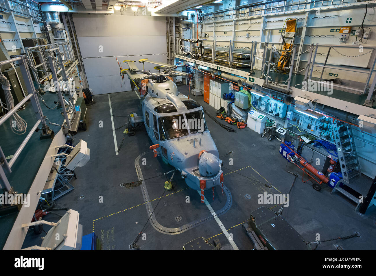
[[[223,162],[208,130],[203,107],[179,93],[173,81],[178,75],[192,75],[175,71],[175,65],[139,60],[144,66],[145,62],[157,65],[154,69],[159,71],[139,70],[132,60],[124,60],[129,68],[123,69],[118,62],[120,75],[128,75],[132,90],[144,90],[140,92],[142,115],[131,114],[130,124],[145,125],[154,157],[161,156],[165,163],[179,170],[188,187],[201,190],[203,202],[204,190],[223,187]]]

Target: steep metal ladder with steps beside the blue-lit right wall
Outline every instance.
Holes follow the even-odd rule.
[[[360,204],[359,198],[352,193],[347,192],[342,187],[339,187],[340,182],[343,182],[343,184],[346,186],[349,186],[352,189],[355,188],[354,190],[359,192],[359,189],[356,189],[357,187],[353,187],[351,181],[353,178],[361,175],[352,128],[351,125],[337,120],[332,122],[332,127],[335,145],[337,146],[338,161],[340,162],[341,166],[342,179],[337,182],[331,193],[338,191],[344,196],[347,196],[347,198],[351,199],[357,204],[355,208],[355,210],[357,210]]]

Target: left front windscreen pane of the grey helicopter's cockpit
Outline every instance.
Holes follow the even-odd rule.
[[[180,120],[179,120],[180,118]],[[159,117],[159,136],[160,140],[166,140],[174,137],[180,137],[188,135],[187,128],[181,128],[184,122],[183,115],[175,115],[175,116],[166,116],[166,117]]]

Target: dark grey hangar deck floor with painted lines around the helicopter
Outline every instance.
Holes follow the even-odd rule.
[[[179,91],[187,94],[188,86],[179,86]],[[135,92],[94,98],[96,104],[88,107],[88,129],[79,132],[74,142],[76,144],[79,139],[88,142],[90,161],[76,169],[77,179],[72,181],[75,189],[57,202],[61,202],[60,207],[79,211],[83,235],[94,231],[102,242],[102,249],[128,249],[147,222],[150,210],[154,209],[154,216],[143,231],[146,236],[140,237],[137,243],[141,249],[180,250],[185,243],[198,237],[209,241],[218,238],[222,249],[253,249],[241,225],[247,222],[251,211],[262,206],[257,202],[258,195],[265,191],[286,194],[290,189],[289,206],[284,208],[282,215],[306,241],[314,241],[317,233],[321,240],[354,232],[361,234],[359,238],[320,244],[317,250],[333,250],[336,245],[343,249],[374,249],[375,208],[368,209],[365,215],[354,211],[352,202],[338,193],[331,195],[329,187],[317,192],[312,189],[311,182],[301,182],[301,171],[288,164],[287,170],[299,174],[291,188],[295,176],[285,169],[286,161],[278,152],[278,140],[269,142],[249,128],[227,132],[206,116],[224,162],[227,189],[222,195],[217,187],[214,200],[211,191],[207,191],[208,204],[202,204],[197,191],[189,189],[179,174],[174,178],[173,190],[164,192],[165,177],[160,174],[171,167],[160,158],[153,158],[149,150],[151,141],[144,129],[138,130],[135,136],[124,137],[126,116],[131,111],[138,113],[140,110]],[[193,98],[215,115],[214,108],[204,103],[203,97]],[[119,128],[115,131],[116,144],[120,148],[118,154],[115,152],[110,107],[114,128]],[[229,151],[233,153],[226,155]],[[142,158],[146,158],[146,165],[141,164]],[[233,158],[233,165],[229,165],[229,158]],[[152,179],[133,189],[120,185],[147,178]],[[365,176],[364,181],[371,183],[371,179]],[[189,202],[186,202],[187,196]],[[100,202],[101,198],[103,202]],[[275,211],[280,207],[265,206]],[[208,207],[218,214],[219,220],[212,217]],[[47,216],[44,217],[47,221],[58,220],[53,214]],[[223,234],[223,227],[229,235]],[[48,229],[44,227],[45,231]],[[44,235],[42,233],[41,237]],[[40,243],[39,237],[30,231],[23,247]]]

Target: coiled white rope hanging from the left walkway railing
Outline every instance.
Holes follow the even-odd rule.
[[[2,88],[5,94],[6,105],[8,107],[8,112],[13,109],[14,107],[14,100],[11,93],[11,85],[9,84],[9,80],[5,77],[5,75],[0,74],[0,83],[2,84]],[[14,112],[12,116],[9,118],[9,122],[11,125],[11,130],[15,134],[24,134],[26,133],[27,123],[24,119],[21,118],[17,112]]]

